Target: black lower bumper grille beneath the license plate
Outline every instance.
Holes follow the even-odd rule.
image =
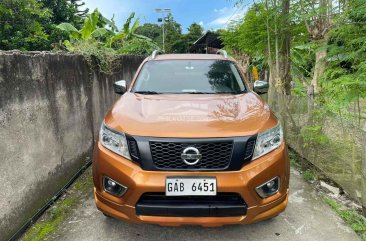
[[[247,205],[237,193],[217,196],[167,197],[146,193],[136,204],[136,214],[165,217],[233,217],[247,213]]]

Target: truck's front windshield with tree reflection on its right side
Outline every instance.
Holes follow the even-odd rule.
[[[133,88],[135,93],[238,94],[244,82],[230,61],[162,60],[143,66]]]

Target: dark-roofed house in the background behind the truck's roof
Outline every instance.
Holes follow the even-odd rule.
[[[224,47],[220,34],[208,31],[201,38],[192,44],[190,53],[216,54],[219,49]]]

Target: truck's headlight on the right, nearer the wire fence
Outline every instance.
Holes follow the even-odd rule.
[[[273,151],[279,147],[282,142],[283,131],[281,123],[278,122],[278,124],[272,129],[258,134],[253,153],[253,160]]]

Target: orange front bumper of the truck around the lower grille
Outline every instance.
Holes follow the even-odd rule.
[[[112,196],[102,187],[102,177],[108,176],[128,187],[122,197]],[[216,176],[217,191],[238,193],[245,200],[245,215],[229,217],[165,217],[136,214],[136,204],[145,193],[164,193],[167,176]],[[255,188],[275,176],[281,178],[277,194],[262,199]],[[247,163],[239,171],[166,172],[144,171],[138,164],[107,150],[99,142],[93,158],[94,197],[102,212],[131,222],[155,223],[163,226],[253,223],[271,218],[284,211],[288,202],[289,161],[287,148],[282,144],[271,153]]]

